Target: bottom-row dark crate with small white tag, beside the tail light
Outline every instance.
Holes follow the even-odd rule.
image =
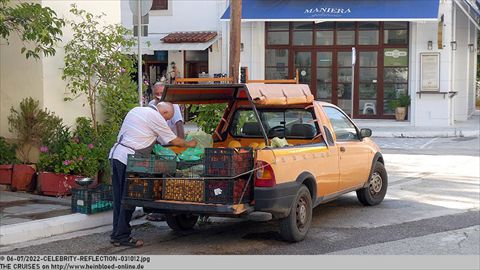
[[[247,183],[248,178],[237,178],[229,180],[207,180],[207,183],[205,185],[205,202],[227,205],[249,203],[251,201],[251,198],[253,198],[252,181],[250,181],[248,185]]]

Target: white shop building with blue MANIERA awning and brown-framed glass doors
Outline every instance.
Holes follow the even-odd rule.
[[[393,119],[407,94],[411,125],[448,126],[475,110],[478,16],[467,0],[244,0],[241,65],[251,79],[298,69],[354,118]]]

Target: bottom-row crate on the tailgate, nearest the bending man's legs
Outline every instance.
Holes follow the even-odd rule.
[[[126,197],[139,200],[161,200],[163,180],[155,178],[127,178]]]

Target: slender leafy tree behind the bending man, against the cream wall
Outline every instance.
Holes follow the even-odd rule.
[[[130,78],[135,60],[125,54],[135,45],[135,40],[127,38],[130,31],[122,25],[102,23],[105,14],[93,15],[75,5],[70,12],[76,19],[68,22],[73,38],[65,46],[63,79],[67,80],[72,93],[67,99],[87,97],[97,132],[98,101],[104,105],[107,120],[112,122],[118,122],[117,117],[123,117],[125,111],[135,106],[135,83]],[[111,99],[118,100],[113,103]]]

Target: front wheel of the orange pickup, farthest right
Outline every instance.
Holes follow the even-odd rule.
[[[385,166],[381,162],[376,162],[368,179],[368,186],[357,190],[357,198],[365,206],[377,205],[385,198],[387,187],[388,175]]]

